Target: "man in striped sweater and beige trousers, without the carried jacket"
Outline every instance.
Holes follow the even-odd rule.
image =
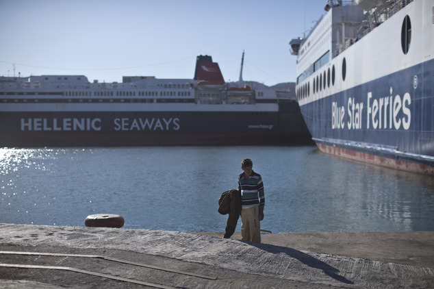
[[[261,242],[261,225],[264,219],[264,184],[261,175],[253,171],[251,159],[241,162],[244,173],[238,176],[241,192],[241,236],[243,241]]]

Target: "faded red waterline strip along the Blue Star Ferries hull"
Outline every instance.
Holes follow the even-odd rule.
[[[374,164],[376,166],[384,166],[386,168],[395,168],[401,171],[408,171],[412,173],[423,173],[426,175],[434,175],[434,167],[425,164],[416,164],[414,162],[404,162],[402,160],[394,160],[392,158],[384,158],[379,155],[372,155],[370,153],[362,153],[360,151],[353,151],[350,149],[343,149],[340,147],[333,147],[330,145],[316,144],[318,149],[323,153],[335,155],[337,157],[355,160],[357,162],[365,162]]]

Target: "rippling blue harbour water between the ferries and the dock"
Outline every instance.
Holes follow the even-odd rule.
[[[320,153],[316,147],[0,149],[0,223],[224,231],[217,212],[244,158],[264,181],[261,229],[434,231],[434,179]],[[240,231],[238,222],[237,231]]]

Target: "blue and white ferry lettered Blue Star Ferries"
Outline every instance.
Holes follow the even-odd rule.
[[[434,174],[434,0],[328,1],[297,55],[320,151]]]

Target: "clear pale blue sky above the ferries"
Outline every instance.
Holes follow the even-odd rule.
[[[296,79],[288,43],[326,0],[0,0],[0,76],[192,79],[211,55],[225,81]],[[15,68],[15,70],[14,70]]]

